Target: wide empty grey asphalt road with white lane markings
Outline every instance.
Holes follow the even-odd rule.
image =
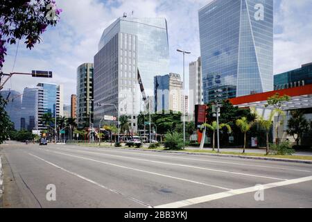
[[[4,207],[312,207],[312,165],[73,145],[0,146]]]

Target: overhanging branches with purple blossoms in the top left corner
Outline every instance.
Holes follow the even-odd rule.
[[[48,26],[55,26],[62,9],[54,0],[1,0],[0,3],[0,72],[7,44],[26,39],[26,48],[33,49]]]

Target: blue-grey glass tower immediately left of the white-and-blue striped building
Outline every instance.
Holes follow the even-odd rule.
[[[40,105],[43,106],[43,94],[40,94]],[[38,128],[38,112],[39,112],[39,89],[24,89],[23,101],[21,103],[21,129],[36,130]]]

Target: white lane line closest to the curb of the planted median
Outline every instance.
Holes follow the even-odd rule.
[[[83,147],[79,147],[83,148]],[[62,148],[58,148],[61,149]],[[72,150],[76,151],[76,148],[71,148]],[[85,149],[84,149],[85,150]],[[292,169],[292,168],[284,168],[284,167],[268,167],[268,166],[263,166],[263,165],[258,165],[258,164],[241,164],[241,163],[236,163],[236,162],[224,162],[224,161],[216,161],[216,160],[202,160],[202,159],[197,159],[197,158],[189,158],[189,157],[174,157],[174,156],[168,156],[168,153],[166,155],[153,155],[153,154],[147,154],[147,153],[138,153],[138,151],[120,151],[120,150],[112,150],[112,148],[105,148],[105,149],[96,149],[96,151],[112,151],[115,153],[125,153],[125,154],[132,154],[132,155],[146,155],[146,156],[151,156],[151,157],[162,157],[162,158],[167,158],[167,159],[180,159],[180,160],[196,160],[200,162],[215,162],[215,163],[220,163],[220,164],[234,164],[234,165],[241,165],[241,166],[246,166],[246,167],[260,167],[260,168],[268,168],[268,169],[282,169],[282,170],[288,170],[288,171],[300,171],[300,172],[306,172],[310,173],[311,171],[309,170],[302,170],[302,169]],[[175,153],[173,153],[175,154]],[[177,154],[175,154],[177,155]]]

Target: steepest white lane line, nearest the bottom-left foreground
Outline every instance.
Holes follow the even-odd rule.
[[[31,153],[28,153],[28,154],[31,155],[31,156],[33,156],[33,157],[35,157],[35,158],[37,158],[38,160],[42,160],[43,162],[46,162],[47,164],[50,164],[50,165],[53,166],[53,167],[56,167],[56,168],[58,168],[58,169],[60,169],[60,170],[62,170],[62,171],[65,171],[65,172],[67,172],[67,173],[70,173],[70,174],[73,175],[73,176],[76,176],[76,177],[78,177],[78,178],[80,178],[80,179],[83,179],[83,180],[85,180],[85,181],[87,181],[87,182],[90,182],[90,183],[92,183],[92,184],[94,184],[94,185],[96,185],[96,186],[98,186],[98,187],[101,187],[101,188],[103,188],[103,189],[106,189],[106,190],[108,190],[108,191],[111,191],[111,192],[113,192],[114,194],[119,194],[119,195],[121,195],[121,196],[124,196],[125,198],[128,198],[129,200],[134,201],[135,203],[139,203],[139,204],[144,205],[144,206],[146,206],[146,207],[150,207],[150,205],[148,205],[148,204],[142,202],[141,200],[137,200],[136,198],[132,198],[131,196],[126,196],[126,195],[124,195],[124,194],[121,194],[119,191],[116,191],[116,190],[114,190],[114,189],[110,189],[110,188],[108,188],[108,187],[105,187],[104,185],[99,184],[98,182],[95,182],[94,180],[90,180],[90,179],[88,179],[88,178],[85,178],[84,176],[80,176],[78,173],[73,173],[73,172],[71,172],[71,171],[69,171],[69,170],[67,170],[67,169],[64,169],[64,168],[62,168],[62,167],[59,167],[58,165],[53,164],[53,163],[51,163],[51,162],[49,162],[49,161],[47,161],[47,160],[44,160],[44,159],[42,159],[41,157],[38,157],[37,155],[33,155],[33,154],[31,154]]]

